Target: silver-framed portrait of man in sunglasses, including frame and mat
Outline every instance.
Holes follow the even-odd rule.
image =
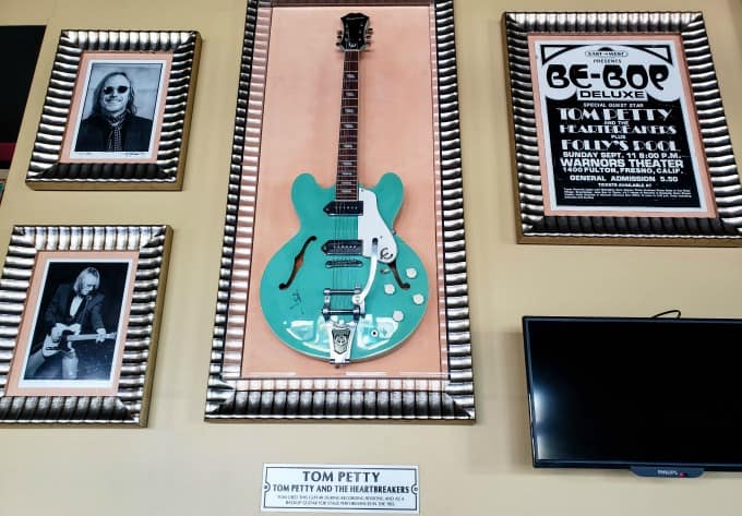
[[[62,31],[26,184],[180,190],[196,32]]]

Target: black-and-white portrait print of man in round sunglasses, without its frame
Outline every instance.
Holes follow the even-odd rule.
[[[152,157],[166,64],[166,60],[89,59],[70,157]]]

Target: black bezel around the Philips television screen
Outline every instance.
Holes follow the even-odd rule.
[[[630,460],[609,460],[609,459],[590,459],[590,460],[570,460],[570,459],[544,459],[538,456],[538,446],[536,442],[535,424],[534,424],[534,396],[532,396],[532,369],[531,369],[531,353],[530,353],[530,338],[528,332],[528,324],[530,322],[547,321],[547,322],[650,322],[658,324],[735,324],[742,326],[742,319],[713,319],[713,317],[621,317],[621,316],[551,316],[551,315],[524,315],[522,320],[523,327],[523,346],[526,365],[526,385],[528,396],[528,425],[530,432],[531,459],[535,468],[595,468],[595,469],[632,469],[637,470],[646,468],[657,468],[658,475],[667,477],[697,477],[697,470],[706,471],[742,471],[742,463],[690,463],[690,461],[670,461],[670,463],[653,463],[653,461],[630,461]],[[690,475],[687,473],[690,472]],[[639,475],[639,473],[637,473]],[[646,476],[646,475],[643,475]]]

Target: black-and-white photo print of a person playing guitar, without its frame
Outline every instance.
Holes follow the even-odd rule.
[[[110,384],[130,275],[130,261],[47,262],[21,386]]]

